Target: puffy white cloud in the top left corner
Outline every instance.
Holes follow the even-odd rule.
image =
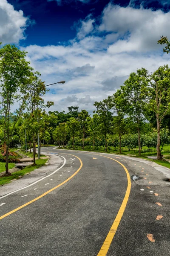
[[[25,39],[27,21],[23,11],[16,11],[7,0],[0,0],[0,42],[17,44],[21,39]]]

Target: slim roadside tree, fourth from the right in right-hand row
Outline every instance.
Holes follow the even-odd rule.
[[[100,118],[100,131],[104,134],[105,137],[105,151],[107,151],[107,134],[111,128],[111,121],[112,121],[112,113],[110,111],[111,105],[110,99],[104,99],[101,102],[94,102],[94,106],[96,107],[96,111]]]

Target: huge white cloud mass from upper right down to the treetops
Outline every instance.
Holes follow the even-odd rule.
[[[55,102],[51,110],[78,105],[92,113],[93,103],[114,93],[131,72],[141,67],[153,72],[169,63],[170,56],[156,44],[161,35],[170,38],[169,23],[170,12],[109,4],[98,27],[88,16],[79,23],[77,33],[82,36],[68,44],[26,47],[31,65],[46,84],[66,81],[49,87],[46,99]]]

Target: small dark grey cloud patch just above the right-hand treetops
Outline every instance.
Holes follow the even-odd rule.
[[[111,79],[102,81],[102,87],[105,91],[113,91],[118,89],[129,76],[113,76]]]

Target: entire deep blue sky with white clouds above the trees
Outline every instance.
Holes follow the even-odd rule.
[[[115,92],[131,72],[169,64],[157,45],[170,38],[170,0],[0,0],[0,41],[28,52],[51,86],[52,110],[94,101]]]

